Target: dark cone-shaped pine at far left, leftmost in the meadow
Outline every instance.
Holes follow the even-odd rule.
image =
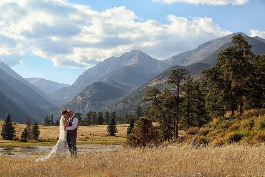
[[[11,120],[10,114],[7,114],[6,119],[1,129],[1,136],[4,140],[14,140],[16,130]]]

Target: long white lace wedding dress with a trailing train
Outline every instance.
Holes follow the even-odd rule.
[[[57,144],[54,146],[52,151],[47,155],[46,157],[42,157],[39,159],[36,159],[36,161],[45,161],[49,158],[55,157],[55,158],[65,158],[66,156],[66,150],[67,150],[67,131],[64,130],[64,118],[63,116],[60,119],[60,125],[59,125],[59,140]]]

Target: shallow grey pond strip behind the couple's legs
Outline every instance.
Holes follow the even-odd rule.
[[[48,155],[54,146],[32,146],[27,148],[0,148],[0,155],[9,157],[22,157],[25,155]],[[117,151],[122,149],[122,145],[77,145],[78,154],[92,152]],[[69,151],[67,151],[68,154]]]

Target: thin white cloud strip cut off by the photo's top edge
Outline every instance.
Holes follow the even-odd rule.
[[[155,2],[161,2],[161,3],[166,3],[166,4],[173,4],[173,3],[187,3],[187,4],[207,4],[207,5],[227,5],[227,4],[232,4],[232,5],[242,5],[249,0],[152,0]]]

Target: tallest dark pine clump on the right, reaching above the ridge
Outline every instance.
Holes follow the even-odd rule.
[[[218,53],[216,66],[203,71],[203,73],[204,82],[208,85],[207,97],[214,96],[215,103],[219,104],[223,112],[229,105],[229,109],[234,115],[237,104],[240,114],[243,113],[244,100],[248,103],[248,107],[252,108],[251,88],[253,83],[251,83],[251,76],[253,67],[251,62],[255,55],[251,51],[251,45],[244,40],[242,35],[234,35],[232,43],[235,45]]]

